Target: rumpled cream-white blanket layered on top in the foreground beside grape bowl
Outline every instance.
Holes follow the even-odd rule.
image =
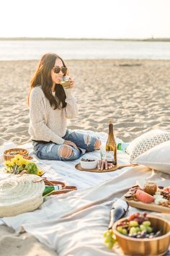
[[[118,247],[110,252],[103,233],[109,223],[112,202],[121,197],[136,180],[161,177],[143,166],[130,168],[98,185],[60,196],[51,196],[40,208],[12,218],[3,218],[16,231],[24,229],[56,250],[59,256],[122,255]],[[130,208],[132,213],[133,208]],[[136,209],[135,209],[136,210]],[[129,214],[130,214],[129,213]]]

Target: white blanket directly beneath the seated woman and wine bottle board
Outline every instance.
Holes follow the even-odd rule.
[[[106,142],[107,140],[107,133],[99,132],[94,133],[92,131],[84,131],[84,130],[77,130],[83,133],[89,133],[90,135],[98,135],[102,142]],[[117,142],[120,141],[117,139]],[[10,145],[10,143],[9,143]],[[50,179],[57,179],[67,184],[75,185],[78,189],[86,189],[91,187],[95,184],[99,184],[100,182],[104,182],[104,180],[110,179],[111,177],[115,177],[120,175],[125,168],[120,169],[119,171],[112,171],[107,173],[91,173],[86,171],[79,171],[76,170],[75,165],[80,162],[80,159],[76,161],[48,161],[48,160],[40,160],[36,157],[33,153],[32,143],[26,143],[24,145],[18,145],[18,148],[26,148],[29,150],[30,155],[34,156],[34,161],[37,163],[37,166],[42,168],[45,171],[45,176],[49,177]],[[0,154],[3,153],[3,146],[0,148]],[[86,153],[84,155],[85,158],[93,157],[93,158],[100,158],[99,150]],[[129,155],[123,152],[119,152],[118,163],[129,163]],[[2,168],[2,163],[0,164]]]

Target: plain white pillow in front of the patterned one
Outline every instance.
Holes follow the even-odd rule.
[[[170,174],[170,140],[139,155],[138,158],[134,159],[133,163]]]

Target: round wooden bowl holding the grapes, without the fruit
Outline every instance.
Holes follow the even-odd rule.
[[[120,234],[117,231],[117,224],[125,221],[127,218],[121,218],[119,221],[116,221],[113,226],[113,232],[117,238],[117,242],[120,244],[125,255],[165,255],[169,249],[170,242],[170,223],[169,221],[164,220],[164,218],[148,215],[151,225],[155,229],[161,230],[162,235],[154,237],[151,239],[148,238],[133,238],[123,234]]]

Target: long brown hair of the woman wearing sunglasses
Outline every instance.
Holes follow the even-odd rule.
[[[40,86],[42,88],[43,93],[45,94],[45,97],[48,98],[48,101],[50,102],[50,106],[53,109],[56,108],[65,108],[66,103],[66,93],[63,90],[62,85],[55,86],[55,97],[52,94],[52,86],[53,81],[51,78],[51,69],[53,69],[55,65],[55,59],[61,59],[57,54],[45,54],[40,59],[39,64],[37,65],[37,69],[35,71],[35,74],[33,75],[32,79],[30,80],[30,92],[33,88],[36,86]],[[63,67],[66,67],[63,59],[61,59],[63,62]],[[29,98],[30,93],[28,95],[28,104],[29,104]]]

